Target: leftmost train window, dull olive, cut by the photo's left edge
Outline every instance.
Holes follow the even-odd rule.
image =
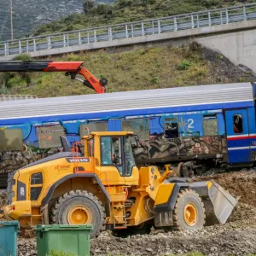
[[[23,150],[21,129],[0,130],[0,151]]]

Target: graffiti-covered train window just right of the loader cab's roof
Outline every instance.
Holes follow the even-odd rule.
[[[148,119],[127,119],[122,121],[122,131],[133,131],[140,140],[149,140],[149,120]]]

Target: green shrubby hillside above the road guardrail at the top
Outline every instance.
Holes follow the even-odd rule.
[[[90,9],[88,15],[75,14],[50,22],[40,26],[32,34],[66,32],[253,2],[255,0],[117,0],[112,5],[102,4]]]

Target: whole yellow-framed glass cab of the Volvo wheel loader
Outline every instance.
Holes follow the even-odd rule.
[[[88,144],[93,145],[96,169],[102,176],[102,182],[105,179],[106,183],[138,184],[139,175],[131,148],[131,135],[124,131],[96,132],[94,137],[88,137]]]

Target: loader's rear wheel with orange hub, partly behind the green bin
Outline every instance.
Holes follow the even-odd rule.
[[[105,209],[95,195],[85,190],[73,190],[61,195],[51,208],[52,224],[93,224],[91,237],[104,230]]]

